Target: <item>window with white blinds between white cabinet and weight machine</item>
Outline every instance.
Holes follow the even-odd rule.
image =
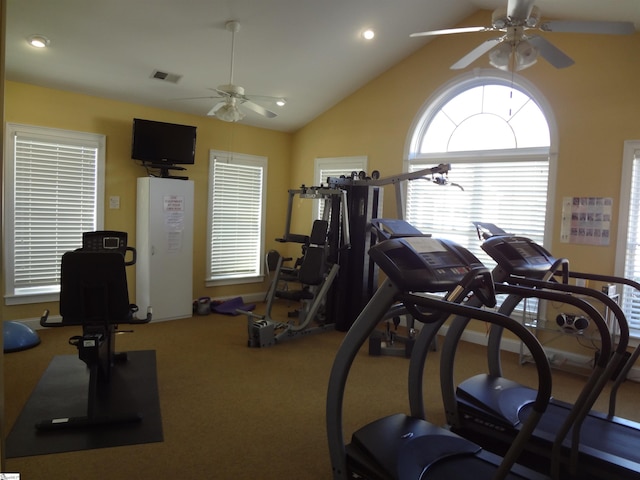
[[[261,280],[267,159],[210,152],[207,282]]]

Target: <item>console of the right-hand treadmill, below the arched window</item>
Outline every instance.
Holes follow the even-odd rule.
[[[558,268],[559,260],[526,237],[498,236],[487,239],[482,249],[511,275],[542,276]]]

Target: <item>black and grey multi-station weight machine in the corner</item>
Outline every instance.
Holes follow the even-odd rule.
[[[317,199],[324,202],[324,218],[327,222],[326,258],[329,266],[327,279],[321,292],[314,296],[311,306],[299,317],[297,325],[292,322],[277,322],[271,316],[274,298],[291,298],[292,294],[278,290],[280,279],[291,281],[298,275],[295,268],[284,266],[287,260],[280,256],[274,281],[267,294],[265,315],[242,312],[248,317],[249,346],[270,346],[279,341],[295,338],[307,333],[335,328],[347,331],[360,311],[378,288],[378,267],[369,258],[369,249],[382,238],[420,234],[403,219],[404,182],[426,179],[437,185],[448,185],[446,175],[451,166],[440,164],[415,172],[381,178],[379,172],[368,177],[365,172],[353,172],[351,176],[329,177],[320,186],[302,186],[289,190],[285,232],[280,242],[294,242],[307,246],[310,237],[291,233],[294,199]],[[397,219],[383,219],[383,187],[393,185],[397,206]],[[455,184],[453,184],[455,185]],[[381,230],[382,229],[382,230]],[[385,232],[382,234],[381,232]],[[308,248],[308,247],[307,247]],[[303,248],[304,250],[304,248]],[[300,265],[304,255],[299,259]],[[295,295],[295,294],[294,294]],[[319,298],[320,297],[320,298]],[[315,302],[318,303],[315,303]],[[324,324],[321,328],[309,328],[310,322],[322,305]],[[398,337],[398,340],[401,340]]]

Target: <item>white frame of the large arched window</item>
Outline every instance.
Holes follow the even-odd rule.
[[[464,152],[441,152],[441,153],[421,153],[421,142],[425,132],[429,128],[431,120],[451,99],[471,88],[487,85],[498,84],[517,89],[531,99],[533,99],[542,113],[544,114],[549,126],[549,147],[542,148],[516,148],[507,150],[481,150],[481,151],[464,151]],[[476,69],[472,72],[455,77],[448,83],[444,84],[435,91],[418,110],[418,114],[412,122],[407,141],[405,144],[404,154],[404,171],[408,172],[412,164],[429,164],[438,165],[441,163],[450,163],[452,165],[451,178],[455,180],[455,164],[462,162],[488,162],[488,161],[507,161],[516,157],[517,159],[526,160],[527,158],[540,157],[547,155],[549,161],[548,185],[547,185],[547,201],[545,214],[545,231],[543,244],[549,248],[552,242],[553,234],[553,214],[555,204],[555,179],[557,172],[557,152],[558,152],[558,134],[555,116],[550,104],[544,95],[524,77],[510,72],[502,72],[495,69]],[[406,187],[404,191],[404,211],[406,211]],[[526,232],[513,232],[526,234]]]

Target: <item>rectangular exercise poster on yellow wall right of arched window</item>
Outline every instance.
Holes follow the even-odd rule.
[[[564,197],[560,241],[609,245],[612,211],[610,197]]]

